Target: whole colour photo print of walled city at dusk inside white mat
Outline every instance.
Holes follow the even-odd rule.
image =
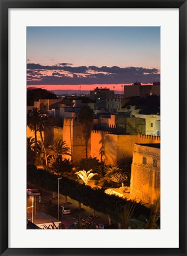
[[[27,229],[162,229],[160,27],[27,27],[26,62]]]

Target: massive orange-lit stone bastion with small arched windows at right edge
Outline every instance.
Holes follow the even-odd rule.
[[[134,145],[130,195],[150,204],[160,196],[160,144]]]

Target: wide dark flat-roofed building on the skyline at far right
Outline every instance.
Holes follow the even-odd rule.
[[[141,85],[140,82],[135,82],[133,85],[124,85],[124,98],[146,98],[150,95],[160,95],[160,82],[154,82],[150,85]]]

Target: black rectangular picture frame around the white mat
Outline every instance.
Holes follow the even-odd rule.
[[[1,8],[1,255],[186,255],[186,72],[187,2],[170,0],[7,1]],[[8,9],[9,8],[179,8],[179,248],[9,248],[8,247]],[[171,207],[172,209],[172,207]],[[172,214],[169,210],[168,214]],[[172,224],[171,224],[172,225]],[[167,239],[167,238],[166,238]]]

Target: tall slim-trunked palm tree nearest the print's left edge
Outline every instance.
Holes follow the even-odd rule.
[[[27,114],[27,125],[31,130],[34,130],[34,140],[35,140],[35,158],[37,158],[37,130],[38,124],[40,123],[40,110],[38,108],[33,108],[28,111]]]

